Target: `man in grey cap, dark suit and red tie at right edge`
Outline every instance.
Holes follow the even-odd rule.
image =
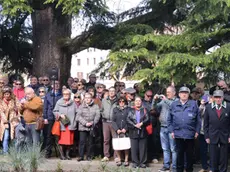
[[[213,102],[206,106],[204,135],[210,145],[213,172],[227,172],[228,143],[230,143],[230,104],[224,101],[224,92],[216,90]]]

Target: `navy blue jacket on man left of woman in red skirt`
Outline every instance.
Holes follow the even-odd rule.
[[[54,98],[54,99],[53,99]],[[48,119],[49,121],[54,121],[53,109],[57,103],[57,101],[62,98],[62,93],[59,91],[55,94],[52,91],[48,92],[44,99],[44,108],[43,108],[43,117],[44,119]],[[53,106],[53,103],[55,105]]]

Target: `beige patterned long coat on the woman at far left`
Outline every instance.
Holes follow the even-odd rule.
[[[0,121],[0,140],[2,141],[3,136],[4,136],[4,131],[5,128],[9,125],[4,124],[4,121],[8,121],[10,123],[10,120],[17,116],[16,109],[19,108],[19,102],[17,100],[10,100],[9,104],[4,100],[0,100],[0,116],[1,116],[1,121]],[[10,138],[14,138],[14,128],[10,125]]]

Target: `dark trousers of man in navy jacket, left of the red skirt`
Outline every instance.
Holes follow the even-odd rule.
[[[44,147],[46,151],[46,155],[51,155],[52,153],[52,146],[54,144],[54,135],[52,135],[52,127],[53,127],[54,121],[48,121],[48,124],[44,126],[43,129],[43,137],[44,137]]]

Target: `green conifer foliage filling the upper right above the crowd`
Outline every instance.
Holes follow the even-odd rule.
[[[220,74],[228,78],[229,5],[228,0],[147,1],[145,7],[151,10],[128,22],[143,22],[152,29],[142,34],[125,34],[115,42],[108,60],[110,73],[125,67],[124,76],[176,84],[195,83],[198,71],[207,83],[214,83]],[[132,13],[135,9],[122,17]],[[220,48],[207,55],[214,46]]]

